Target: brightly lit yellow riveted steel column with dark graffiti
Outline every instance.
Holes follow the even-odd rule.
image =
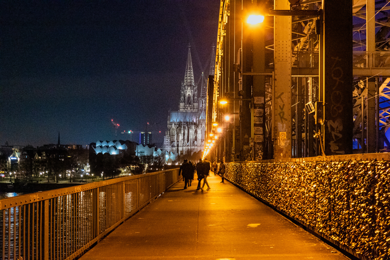
[[[289,10],[287,0],[275,0],[275,10]],[[274,159],[291,158],[291,16],[275,16],[275,83],[272,109]]]

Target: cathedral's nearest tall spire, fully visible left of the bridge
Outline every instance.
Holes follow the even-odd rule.
[[[188,45],[188,56],[184,81],[181,83],[179,111],[197,112],[199,109],[198,89],[195,86],[192,70],[191,46]]]

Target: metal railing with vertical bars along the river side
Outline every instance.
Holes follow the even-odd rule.
[[[0,258],[77,258],[179,179],[174,169],[2,199]]]

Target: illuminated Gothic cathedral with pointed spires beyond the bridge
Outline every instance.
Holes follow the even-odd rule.
[[[214,49],[214,48],[213,48]],[[211,57],[210,73],[214,75],[215,53]],[[168,131],[164,138],[164,148],[177,155],[192,156],[203,150],[206,131],[207,78],[202,73],[202,85],[198,98],[195,84],[191,48],[188,56],[184,81],[181,83],[178,111],[169,111]]]

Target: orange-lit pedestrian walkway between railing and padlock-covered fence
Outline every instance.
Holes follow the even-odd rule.
[[[81,260],[347,259],[210,172],[211,190],[178,182],[116,228]],[[196,175],[195,175],[196,177]]]

